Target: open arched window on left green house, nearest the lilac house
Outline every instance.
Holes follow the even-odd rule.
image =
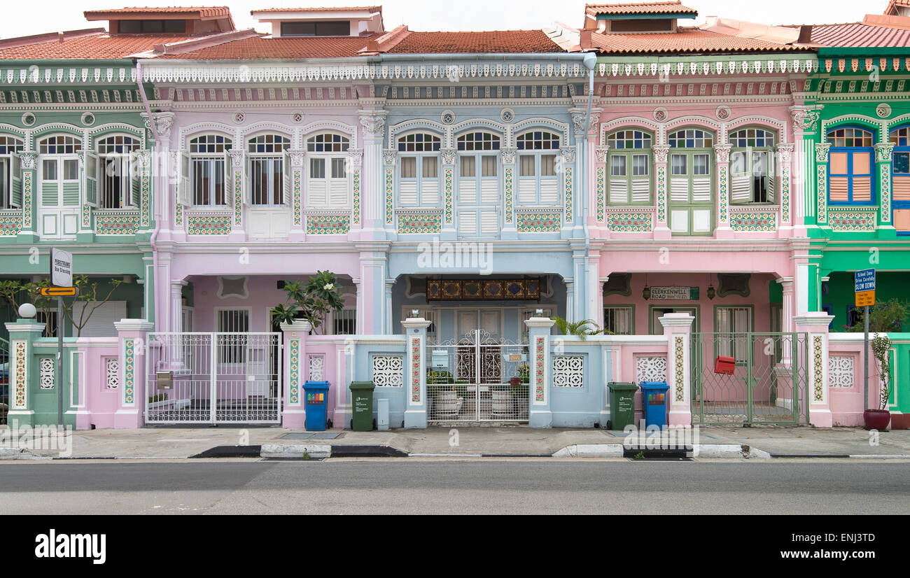
[[[138,174],[134,174],[138,171],[131,170],[130,154],[139,150],[139,139],[126,135],[104,137],[97,141],[96,150],[101,208],[138,207],[140,184]]]

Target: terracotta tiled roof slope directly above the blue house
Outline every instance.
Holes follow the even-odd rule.
[[[412,32],[389,54],[475,54],[562,52],[541,30]]]

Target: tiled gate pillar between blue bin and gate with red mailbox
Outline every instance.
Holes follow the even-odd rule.
[[[688,313],[667,313],[660,318],[667,336],[668,425],[692,425],[692,322]]]

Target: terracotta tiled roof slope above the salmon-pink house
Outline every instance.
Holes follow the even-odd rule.
[[[598,34],[591,42],[601,53],[705,53],[705,52],[788,52],[807,50],[806,46],[784,45],[731,35],[717,34],[699,28],[680,27],[666,34]]]

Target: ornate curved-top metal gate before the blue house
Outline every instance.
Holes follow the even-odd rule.
[[[528,345],[473,330],[428,345],[427,361],[429,421],[528,421]]]

